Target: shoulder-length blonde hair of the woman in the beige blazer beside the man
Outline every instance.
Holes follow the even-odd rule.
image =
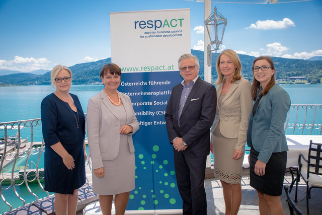
[[[233,74],[233,78],[230,82],[233,83],[241,78],[241,63],[240,63],[237,53],[234,50],[225,49],[217,57],[216,71],[217,71],[218,79],[215,84],[221,84],[223,81],[223,75],[222,75],[220,67],[219,67],[220,57],[223,54],[227,55],[230,58],[230,60],[233,62],[233,64],[235,64],[237,66],[235,73]]]

